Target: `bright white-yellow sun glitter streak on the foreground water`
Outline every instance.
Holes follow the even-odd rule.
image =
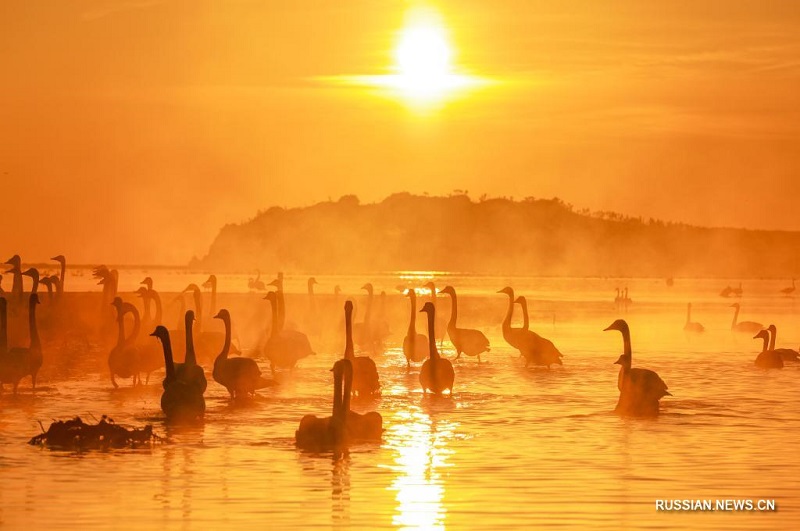
[[[397,491],[397,512],[392,523],[401,529],[444,529],[445,484],[441,469],[452,454],[448,441],[457,423],[435,421],[419,409],[400,412],[387,431],[388,446],[395,450],[397,475],[390,489]]]

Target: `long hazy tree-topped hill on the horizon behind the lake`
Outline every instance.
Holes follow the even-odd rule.
[[[767,259],[768,258],[768,259]],[[272,207],[226,225],[195,267],[217,271],[786,277],[800,265],[800,233],[701,228],[564,201],[399,193],[305,208]]]

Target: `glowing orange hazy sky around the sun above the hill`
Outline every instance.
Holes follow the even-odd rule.
[[[331,81],[391,72],[420,5],[492,84],[421,112]],[[769,0],[3,0],[0,254],[185,263],[271,205],[454,189],[798,230],[798,28]]]

